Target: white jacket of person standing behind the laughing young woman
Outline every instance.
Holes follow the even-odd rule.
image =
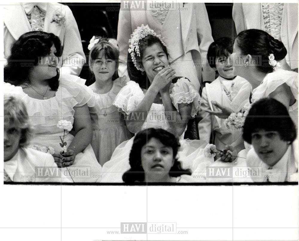
[[[141,24],[148,24],[149,28],[157,34],[161,34],[164,38],[171,59],[176,60],[186,55],[189,51],[191,52],[192,57],[190,57],[190,60],[196,61],[197,66],[195,66],[199,82],[201,82],[201,76],[203,76],[203,81],[212,82],[215,79],[215,71],[206,64],[207,51],[213,42],[213,37],[205,4],[185,3],[182,11],[177,9],[179,7],[182,8],[183,3],[174,5],[176,9],[169,10],[164,24],[161,25],[152,16],[148,6],[141,6],[140,4],[139,9],[125,9],[123,2],[121,3],[117,34],[118,46],[120,48],[120,76],[127,75],[130,35]],[[205,65],[203,66],[203,72],[201,64]],[[199,85],[194,87],[197,90],[199,89]]]

